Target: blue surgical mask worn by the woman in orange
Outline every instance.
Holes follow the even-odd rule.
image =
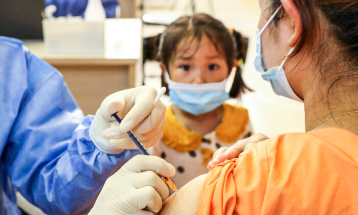
[[[256,70],[261,74],[261,77],[266,81],[271,83],[271,87],[277,95],[285,96],[290,99],[294,99],[297,101],[302,102],[302,99],[298,97],[291,86],[288,83],[286,78],[285,71],[283,69],[283,65],[287,60],[287,57],[294,51],[293,47],[289,50],[287,56],[284,58],[280,66],[270,68],[269,70],[265,71],[265,67],[262,61],[261,55],[261,34],[266,29],[266,27],[272,22],[272,19],[276,16],[278,11],[281,9],[282,5],[276,10],[276,12],[267,20],[267,23],[261,29],[256,29],[256,57],[254,61],[254,66]]]

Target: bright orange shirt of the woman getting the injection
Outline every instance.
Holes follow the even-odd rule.
[[[284,134],[212,167],[197,214],[358,214],[358,135]]]

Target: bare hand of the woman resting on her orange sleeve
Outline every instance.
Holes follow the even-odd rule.
[[[240,154],[243,154],[248,149],[252,148],[256,143],[266,139],[269,138],[261,133],[257,133],[249,138],[237,141],[237,143],[230,147],[221,147],[217,149],[213,155],[212,161],[210,161],[208,164],[208,170],[210,170],[210,168],[216,164],[233,158],[238,158]]]

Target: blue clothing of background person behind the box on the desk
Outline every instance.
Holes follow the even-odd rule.
[[[118,0],[101,0],[107,18],[116,17],[116,7],[119,5]],[[70,13],[72,16],[84,16],[84,11],[87,7],[88,0],[44,0],[45,6],[55,5],[57,11],[53,14],[54,17],[67,16]]]

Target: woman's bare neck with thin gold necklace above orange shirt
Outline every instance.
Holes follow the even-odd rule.
[[[345,86],[343,86],[345,84]],[[358,92],[349,84],[342,83],[340,87],[334,87],[322,92],[310,89],[304,97],[306,132],[326,127],[340,127],[352,133],[358,134],[358,114],[350,113],[358,111]],[[319,93],[320,92],[320,93]],[[342,114],[342,115],[341,115]],[[335,116],[327,119],[328,117]]]

